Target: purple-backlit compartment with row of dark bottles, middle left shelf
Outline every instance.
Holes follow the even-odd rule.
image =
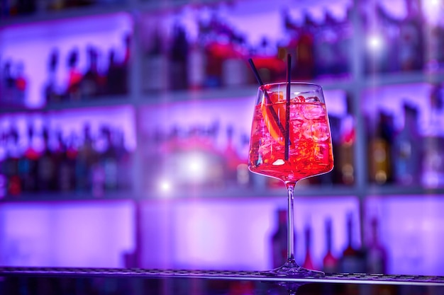
[[[132,192],[134,122],[131,106],[1,115],[0,197],[114,198]]]

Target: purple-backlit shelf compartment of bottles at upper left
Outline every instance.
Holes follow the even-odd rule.
[[[2,112],[129,100],[132,22],[114,13],[0,30]]]

